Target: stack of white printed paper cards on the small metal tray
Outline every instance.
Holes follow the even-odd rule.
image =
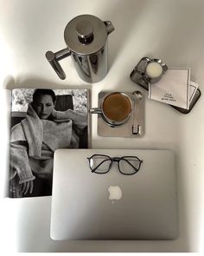
[[[190,82],[190,69],[168,69],[159,82],[149,85],[149,98],[188,109],[197,88]]]

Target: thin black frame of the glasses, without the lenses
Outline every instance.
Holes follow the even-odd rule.
[[[92,159],[93,156],[96,156],[96,155],[97,155],[97,156],[105,156],[106,159],[105,159],[104,161],[101,161],[97,167],[92,168],[92,167],[91,167],[91,159]],[[131,158],[137,159],[137,161],[139,161],[139,167],[138,167],[138,168],[134,167],[134,166],[131,164],[130,161],[127,161],[127,160],[125,159],[125,158],[127,158],[127,157],[131,157]],[[124,173],[121,171],[120,167],[119,167],[119,161],[124,160],[124,161],[127,161],[127,162],[131,165],[131,167],[133,167],[133,169],[135,170],[135,172],[132,173],[132,174],[124,174],[124,175],[133,175],[133,174],[137,174],[137,172],[139,171],[139,169],[140,169],[140,167],[141,167],[141,164],[143,163],[143,160],[140,160],[137,156],[132,156],[132,155],[125,155],[125,156],[121,156],[121,157],[110,157],[109,155],[106,155],[106,154],[92,154],[91,157],[87,157],[87,160],[88,160],[88,162],[89,162],[89,167],[90,167],[90,169],[92,170],[92,173],[95,173],[95,174],[107,174],[107,173],[111,170],[111,168],[112,168],[112,163],[113,163],[114,161],[118,162],[118,170],[119,170],[119,172],[120,172],[121,174],[124,174]],[[105,172],[103,172],[103,173],[97,172],[97,171],[96,171],[97,168],[98,168],[102,163],[104,163],[105,161],[110,161],[110,165],[109,165],[109,167],[108,167],[108,170],[105,171]]]

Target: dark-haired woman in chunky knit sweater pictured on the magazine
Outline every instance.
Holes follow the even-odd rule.
[[[36,89],[26,118],[11,129],[10,197],[52,194],[53,158],[57,148],[79,148],[86,115],[54,110],[51,89]]]

